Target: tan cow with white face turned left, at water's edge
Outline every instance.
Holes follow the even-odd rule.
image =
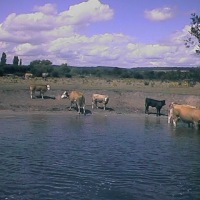
[[[71,104],[70,104],[69,110],[71,110],[73,104],[76,104],[78,113],[80,114],[81,108],[82,108],[83,113],[85,114],[85,97],[83,93],[78,92],[78,91],[71,91],[70,93],[68,93],[67,91],[65,91],[61,95],[61,99],[64,99],[64,98],[70,99]]]

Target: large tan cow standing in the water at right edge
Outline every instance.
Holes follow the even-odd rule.
[[[190,124],[194,124],[197,128],[200,122],[200,109],[197,109],[195,106],[191,105],[171,103],[168,115],[168,123],[172,122],[176,127],[179,119],[187,123],[188,126],[190,126]]]

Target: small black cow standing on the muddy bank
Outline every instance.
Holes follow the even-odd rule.
[[[151,107],[156,107],[156,110],[157,110],[156,115],[160,116],[160,110],[164,105],[165,105],[165,100],[159,101],[155,99],[146,98],[145,99],[145,113],[149,114],[149,106],[151,106]]]

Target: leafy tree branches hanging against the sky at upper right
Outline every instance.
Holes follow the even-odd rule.
[[[200,16],[195,13],[191,15],[192,22],[189,33],[196,38],[198,44],[194,42],[194,39],[189,37],[187,40],[185,40],[185,46],[189,48],[191,46],[197,45],[196,53],[200,55]]]

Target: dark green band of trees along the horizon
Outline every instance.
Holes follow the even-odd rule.
[[[67,64],[53,65],[49,60],[35,60],[29,65],[0,64],[0,76],[13,74],[24,77],[25,73],[32,73],[34,77],[42,77],[48,73],[50,77],[99,77],[99,78],[134,78],[143,80],[180,81],[194,80],[200,82],[200,67],[76,67]]]

